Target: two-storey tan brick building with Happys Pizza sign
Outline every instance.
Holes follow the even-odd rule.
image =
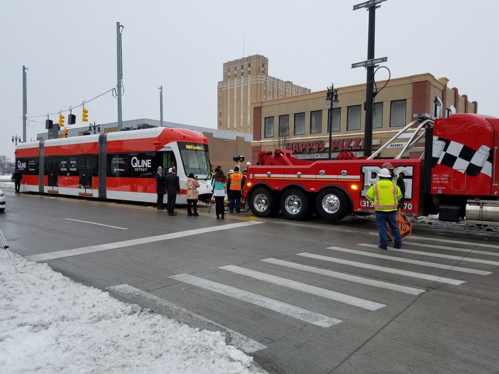
[[[448,87],[448,82],[447,78],[436,79],[429,73],[391,79],[374,99],[373,152],[412,122],[413,114],[435,115],[436,96],[444,104],[444,117],[451,113],[451,106],[457,113],[477,113],[478,103],[470,102],[467,95],[460,95],[457,88]],[[376,82],[378,88],[385,83]],[[333,157],[342,150],[363,155],[365,92],[365,84],[338,89],[339,103],[332,112]],[[259,151],[276,148],[291,149],[298,158],[327,159],[329,102],[325,101],[326,94],[327,91],[318,91],[254,103],[253,163]],[[402,138],[394,148],[384,150],[381,157],[396,156],[404,145]]]

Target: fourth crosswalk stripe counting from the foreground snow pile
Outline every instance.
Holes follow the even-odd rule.
[[[332,270],[327,270],[327,269],[320,269],[320,268],[316,268],[313,266],[297,264],[295,262],[278,260],[276,258],[265,258],[265,259],[262,259],[260,261],[268,262],[268,263],[275,264],[275,265],[286,266],[286,267],[289,267],[292,269],[308,271],[310,273],[325,275],[325,276],[328,276],[331,278],[343,279],[343,280],[347,280],[349,282],[355,282],[355,283],[365,284],[368,286],[374,286],[374,287],[379,287],[379,288],[386,288],[388,290],[399,291],[399,292],[403,292],[403,293],[411,294],[411,295],[419,295],[419,294],[422,294],[423,292],[425,292],[425,290],[420,289],[420,288],[401,286],[401,285],[394,284],[394,283],[382,282],[382,281],[369,279],[369,278],[362,278],[362,277],[358,277],[356,275],[339,273],[337,271],[332,271]]]

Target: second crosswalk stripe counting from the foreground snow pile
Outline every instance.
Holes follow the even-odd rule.
[[[310,312],[306,309],[299,308],[294,305],[286,304],[281,301],[273,300],[265,296],[260,296],[252,292],[240,290],[238,288],[227,286],[225,284],[213,282],[208,279],[198,278],[193,275],[184,273],[174,275],[171,278],[176,279],[180,282],[192,284],[193,286],[214,291],[222,295],[230,296],[247,303],[258,305],[262,308],[266,308],[274,312],[311,323],[316,326],[330,327],[342,322],[341,320],[337,320],[336,318],[331,318],[322,314]]]

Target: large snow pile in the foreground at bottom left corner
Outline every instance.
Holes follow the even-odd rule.
[[[11,253],[18,274],[0,250],[2,373],[257,373],[221,332],[122,303]]]

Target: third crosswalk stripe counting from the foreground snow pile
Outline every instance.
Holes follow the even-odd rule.
[[[290,279],[277,277],[275,275],[270,275],[251,269],[246,269],[240,266],[235,266],[235,265],[220,266],[219,269],[227,270],[236,274],[245,275],[247,277],[259,279],[265,282],[277,284],[279,286],[288,287],[293,290],[298,290],[312,295],[324,297],[330,300],[339,301],[340,303],[353,305],[367,310],[377,310],[386,307],[386,304],[376,303],[374,301],[361,299],[355,296],[350,296],[339,292],[326,290],[324,288],[311,286],[309,284],[296,282]]]

